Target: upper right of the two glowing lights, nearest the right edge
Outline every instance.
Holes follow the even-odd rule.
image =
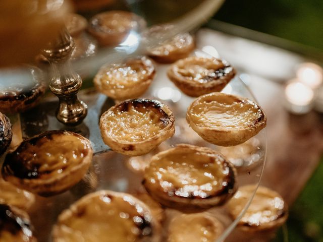
[[[311,88],[317,88],[323,81],[322,68],[314,63],[304,63],[300,65],[296,75],[300,82]]]

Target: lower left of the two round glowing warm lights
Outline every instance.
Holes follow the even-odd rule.
[[[305,106],[312,102],[313,90],[301,82],[291,82],[285,89],[286,99],[294,105]]]

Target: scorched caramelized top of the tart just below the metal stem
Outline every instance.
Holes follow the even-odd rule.
[[[4,177],[50,179],[83,162],[91,149],[82,136],[68,131],[48,131],[25,140],[6,156]]]

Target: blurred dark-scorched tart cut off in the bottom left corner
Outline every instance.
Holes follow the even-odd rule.
[[[26,212],[0,204],[0,242],[37,242]]]

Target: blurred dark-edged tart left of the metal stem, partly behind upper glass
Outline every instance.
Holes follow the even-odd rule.
[[[12,73],[16,71],[15,76]],[[39,69],[11,70],[1,73],[0,111],[4,113],[23,112],[34,107],[45,93],[45,85]]]

